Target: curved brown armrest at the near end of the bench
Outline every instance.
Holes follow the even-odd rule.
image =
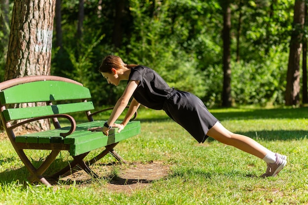
[[[23,124],[26,124],[26,123],[29,123],[29,122],[32,122],[32,121],[36,121],[36,120],[40,120],[40,119],[47,119],[47,118],[54,118],[54,117],[63,117],[63,118],[66,118],[66,119],[68,119],[70,121],[70,124],[71,124],[70,130],[68,132],[66,132],[66,133],[60,133],[60,135],[62,137],[66,137],[66,136],[72,134],[75,131],[75,129],[76,129],[76,121],[75,121],[74,117],[72,117],[70,115],[66,115],[66,114],[57,114],[57,115],[50,115],[50,116],[43,116],[43,117],[33,117],[31,119],[27,119],[25,121],[18,122],[16,124],[10,126],[9,128],[10,129],[14,129],[14,128],[18,127],[18,126],[21,126]]]

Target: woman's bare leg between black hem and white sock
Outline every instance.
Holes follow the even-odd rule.
[[[223,144],[239,148],[260,159],[263,159],[270,151],[249,137],[230,132],[219,122],[216,122],[207,135]]]

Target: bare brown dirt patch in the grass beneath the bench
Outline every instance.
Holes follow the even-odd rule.
[[[107,189],[112,192],[131,193],[135,190],[151,185],[151,182],[161,179],[169,174],[169,166],[163,162],[130,164],[100,164],[92,170],[102,178],[109,178]],[[77,171],[71,175],[63,176],[60,181],[75,182],[81,185],[91,183],[92,177],[84,171]]]

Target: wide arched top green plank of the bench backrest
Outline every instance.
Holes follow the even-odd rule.
[[[25,83],[0,92],[1,104],[91,98],[88,88],[62,81]]]

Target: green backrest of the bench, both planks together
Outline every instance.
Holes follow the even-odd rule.
[[[90,90],[74,81],[65,82],[65,80],[62,81],[61,78],[57,78],[56,80],[39,80],[15,84],[5,89],[0,87],[2,89],[0,91],[0,104],[6,121],[94,109],[93,103],[86,100],[91,98]],[[67,100],[70,102],[67,103]],[[47,102],[47,105],[25,106],[24,108],[11,108],[12,106],[7,106],[8,104],[33,102]],[[49,102],[52,104],[48,105]],[[3,105],[8,108],[3,110]]]

